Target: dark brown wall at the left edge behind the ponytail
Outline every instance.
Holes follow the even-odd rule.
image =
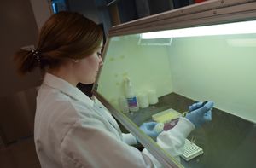
[[[42,13],[42,15],[45,14]],[[42,18],[46,17],[41,16]],[[36,44],[38,25],[30,0],[2,1],[0,5],[0,21],[0,97],[2,97],[39,84],[38,72],[33,72],[21,78],[15,72],[15,64],[12,61],[17,49],[25,45]],[[38,24],[40,25],[40,21],[38,21]]]

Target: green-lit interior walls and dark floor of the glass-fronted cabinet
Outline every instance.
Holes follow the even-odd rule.
[[[137,96],[156,92],[158,103],[125,113],[135,124],[172,108],[188,110],[195,101],[214,101],[212,122],[188,139],[204,154],[181,162],[189,167],[256,165],[256,34],[142,39],[141,34],[108,40],[97,91],[122,113],[129,77]],[[149,97],[150,98],[150,97]]]

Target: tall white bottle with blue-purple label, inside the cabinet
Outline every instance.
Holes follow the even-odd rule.
[[[125,95],[128,102],[128,107],[131,112],[136,112],[139,110],[139,106],[137,103],[137,96],[132,90],[131,80],[130,78],[125,78]]]

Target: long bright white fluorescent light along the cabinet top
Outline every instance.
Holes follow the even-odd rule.
[[[228,35],[228,34],[250,34],[256,33],[256,20],[242,21],[236,23],[227,23],[212,26],[198,26],[182,29],[174,29],[160,32],[142,33],[141,38],[182,38],[195,36],[214,36],[214,35]]]

